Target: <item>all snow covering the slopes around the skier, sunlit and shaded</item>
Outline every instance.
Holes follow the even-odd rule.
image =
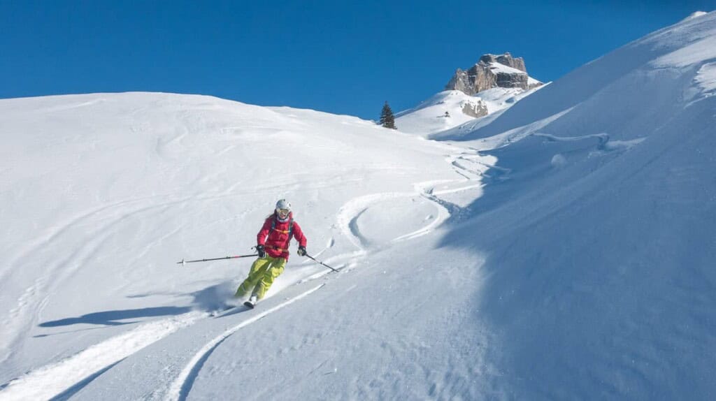
[[[442,92],[419,135],[210,96],[0,100],[0,400],[711,399],[711,49],[716,13],[420,129],[463,100]],[[217,315],[251,258],[176,262],[251,252],[282,197],[341,271],[294,244],[256,309]]]

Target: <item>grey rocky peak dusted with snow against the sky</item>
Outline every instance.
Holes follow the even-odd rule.
[[[500,71],[499,66],[494,64],[502,64],[518,71]],[[494,71],[496,70],[496,71]],[[485,54],[480,57],[478,64],[470,67],[467,71],[458,69],[450,82],[445,86],[447,90],[458,90],[472,96],[480,91],[491,89],[497,86],[503,88],[522,88],[531,89],[538,84],[529,84],[529,76],[527,68],[522,57],[513,58],[509,53]]]

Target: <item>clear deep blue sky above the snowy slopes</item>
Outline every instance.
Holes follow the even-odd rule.
[[[716,0],[0,0],[0,98],[210,94],[377,119],[484,53],[553,81]]]

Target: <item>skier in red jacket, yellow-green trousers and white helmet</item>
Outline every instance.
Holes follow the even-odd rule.
[[[237,298],[251,297],[243,305],[253,308],[269,290],[274,279],[284,272],[289,261],[289,244],[291,237],[299,242],[299,256],[306,255],[306,237],[298,223],[294,222],[291,204],[286,199],[276,202],[274,213],[266,217],[261,231],[256,235],[256,251],[258,259],[251,265],[248,277],[236,289]]]

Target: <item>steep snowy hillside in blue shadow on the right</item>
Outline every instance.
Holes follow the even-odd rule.
[[[446,132],[500,169],[442,244],[487,254],[475,317],[516,399],[716,393],[716,13]]]

